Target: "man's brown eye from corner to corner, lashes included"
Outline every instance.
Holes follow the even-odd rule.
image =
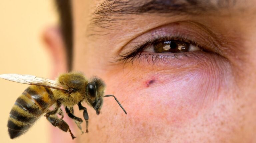
[[[134,62],[136,60],[147,61],[147,63],[159,63],[166,62],[172,59],[183,59],[184,57],[189,60],[192,56],[196,54],[203,54],[207,49],[203,46],[197,44],[194,41],[188,40],[182,37],[164,37],[159,39],[154,39],[148,41],[135,47],[132,51],[122,53],[119,55],[118,61],[123,61],[124,63]],[[201,53],[200,53],[201,52]]]

